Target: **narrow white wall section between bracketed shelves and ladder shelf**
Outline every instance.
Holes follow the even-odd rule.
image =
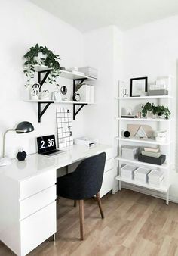
[[[94,82],[96,105],[84,110],[84,133],[108,145],[114,145],[114,97],[121,74],[121,58],[116,52],[121,52],[121,33],[116,27],[84,33],[84,64],[98,70]]]

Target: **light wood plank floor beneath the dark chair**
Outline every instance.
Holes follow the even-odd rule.
[[[178,204],[122,189],[102,198],[105,219],[95,199],[84,202],[84,241],[79,240],[78,207],[61,199],[57,241],[44,242],[30,256],[178,255]],[[14,255],[0,242],[0,255]]]

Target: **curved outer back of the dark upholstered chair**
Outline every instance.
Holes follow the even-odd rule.
[[[84,159],[73,173],[75,183],[75,197],[80,199],[91,198],[100,191],[103,182],[103,172],[106,162],[106,153],[100,153]]]

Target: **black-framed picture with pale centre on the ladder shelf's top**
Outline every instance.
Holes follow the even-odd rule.
[[[142,92],[147,92],[148,77],[130,79],[130,97],[139,97]]]

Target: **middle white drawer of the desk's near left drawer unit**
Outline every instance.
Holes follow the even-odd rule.
[[[56,199],[56,185],[51,186],[48,189],[44,189],[42,192],[38,192],[29,198],[20,201],[20,219],[28,217],[30,214],[34,214],[36,211],[44,208],[48,204],[51,204]]]

